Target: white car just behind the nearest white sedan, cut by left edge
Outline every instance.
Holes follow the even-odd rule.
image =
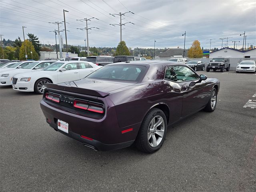
[[[28,64],[25,63],[27,65],[22,68],[12,68],[12,70],[0,71],[0,86],[12,85],[12,77],[16,74],[41,70],[54,62],[56,61],[37,61]]]

